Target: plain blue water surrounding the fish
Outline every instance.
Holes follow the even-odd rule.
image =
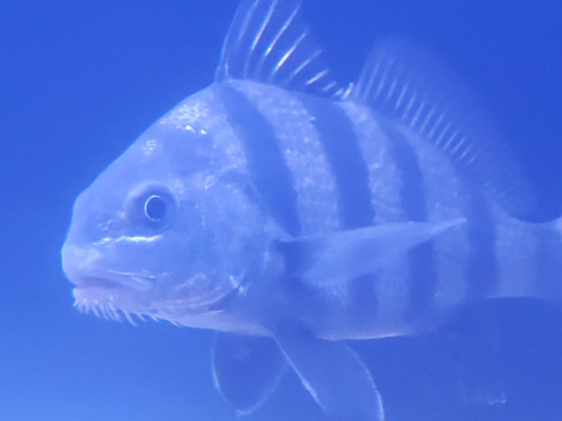
[[[359,74],[377,36],[431,48],[524,161],[542,199],[537,218],[561,214],[562,6],[426,3],[306,0],[305,9],[342,81]],[[236,4],[0,6],[0,420],[237,419],[214,391],[211,333],[79,314],[59,256],[77,194],[158,116],[211,82]],[[388,421],[562,419],[559,309],[509,302],[455,320],[453,345],[448,333],[354,345]],[[450,375],[458,370],[469,380]],[[495,396],[497,382],[510,393],[504,405],[459,398],[465,383]],[[247,418],[321,419],[292,373]]]

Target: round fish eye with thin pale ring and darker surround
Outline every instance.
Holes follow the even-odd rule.
[[[174,192],[158,182],[136,187],[129,193],[126,202],[131,222],[157,229],[169,225],[178,208]]]

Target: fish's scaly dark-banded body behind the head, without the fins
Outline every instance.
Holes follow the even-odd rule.
[[[197,109],[209,114],[199,119]],[[304,290],[288,288],[286,278],[268,286],[275,288],[269,294],[286,294],[287,312],[294,316],[298,307],[299,323],[323,338],[416,333],[473,300],[556,290],[562,268],[555,224],[512,218],[440,149],[367,105],[233,80],[193,95],[161,123],[202,131],[209,159],[221,162],[218,172],[240,171],[274,227],[264,246],[280,237],[466,218],[372,274],[318,279]]]

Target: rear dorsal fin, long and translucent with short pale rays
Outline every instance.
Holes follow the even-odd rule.
[[[443,65],[419,48],[396,39],[379,42],[351,98],[442,149],[512,216],[536,213],[532,188],[493,125]]]

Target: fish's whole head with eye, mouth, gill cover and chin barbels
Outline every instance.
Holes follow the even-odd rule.
[[[193,111],[203,103],[193,95],[159,119],[75,201],[62,258],[80,309],[185,320],[263,254],[263,212]],[[190,124],[176,118],[186,112]]]

